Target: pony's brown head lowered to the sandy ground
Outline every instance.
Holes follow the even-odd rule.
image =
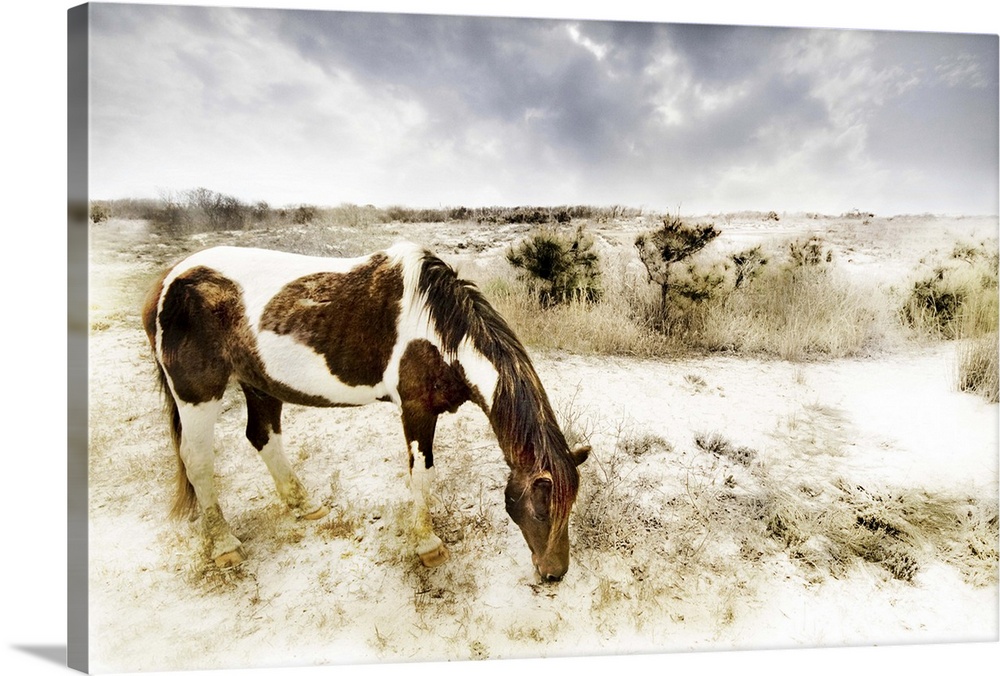
[[[507,514],[521,529],[543,580],[560,580],[569,568],[569,513],[579,485],[576,468],[589,454],[590,446],[577,446],[568,454],[567,467],[555,476],[548,469],[514,467],[507,480]]]

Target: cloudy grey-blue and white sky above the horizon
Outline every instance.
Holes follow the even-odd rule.
[[[998,212],[996,34],[91,6],[90,191]]]

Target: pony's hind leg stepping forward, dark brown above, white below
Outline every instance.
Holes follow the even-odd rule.
[[[278,495],[300,519],[320,519],[330,509],[310,499],[281,443],[281,400],[241,383],[247,400],[247,439],[257,449],[274,478]]]

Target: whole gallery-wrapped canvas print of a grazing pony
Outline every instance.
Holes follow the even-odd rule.
[[[70,17],[71,666],[997,640],[996,35]]]

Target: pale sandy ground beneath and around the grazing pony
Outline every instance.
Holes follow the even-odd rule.
[[[995,232],[995,221],[975,225],[977,235]],[[727,227],[739,243],[778,232],[738,220]],[[932,239],[951,236],[931,231]],[[602,236],[627,241],[630,233],[609,227]],[[858,274],[886,279],[912,269],[930,243],[866,243],[857,233],[851,242]],[[103,321],[90,339],[94,672],[998,638],[996,585],[970,584],[932,557],[908,582],[865,563],[816,580],[780,553],[762,556],[740,573],[745,579],[729,579],[712,568],[728,555],[727,543],[706,537],[705,568],[677,581],[676,598],[642,599],[630,592],[628,557],[574,545],[567,577],[540,585],[503,512],[499,449],[471,405],[439,425],[435,514],[452,558],[426,570],[414,564],[398,525],[408,489],[393,406],[286,408],[289,456],[333,506],[330,519],[363,515],[341,532],[285,512],[242,436],[242,404],[231,393],[216,430],[218,485],[250,558],[238,571],[212,570],[198,524],[165,518],[175,462],[152,362],[138,325],[128,323],[134,308],[122,309],[123,318],[114,307],[153,267],[127,247],[92,263],[91,313]],[[690,494],[692,477],[708,490],[729,471],[699,455],[693,441],[717,433],[755,449],[789,481],[837,478],[995,505],[997,405],[956,391],[956,349],[905,345],[878,358],[817,363],[534,359],[556,409],[571,411],[594,446],[588,471],[612,462],[623,434],[669,443],[668,452],[628,466],[630,485],[653,497]]]

